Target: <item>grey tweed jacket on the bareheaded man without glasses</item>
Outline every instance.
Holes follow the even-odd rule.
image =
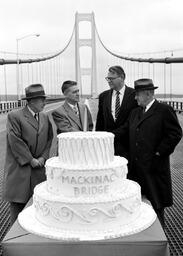
[[[87,131],[93,129],[91,113],[85,104],[78,103],[79,116],[74,113],[73,109],[65,101],[59,108],[52,112],[53,120],[57,127],[57,134],[61,132],[83,131],[84,112],[87,109]]]

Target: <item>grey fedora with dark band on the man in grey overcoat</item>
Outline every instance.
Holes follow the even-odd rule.
[[[31,84],[25,88],[25,97],[22,100],[46,97],[42,84]]]

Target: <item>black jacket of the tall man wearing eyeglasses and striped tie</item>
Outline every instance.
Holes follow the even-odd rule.
[[[120,106],[119,115],[114,121],[111,113],[111,100],[113,90],[104,91],[99,95],[99,106],[96,120],[96,131],[112,132],[121,125],[123,125],[132,109],[136,108],[137,101],[135,100],[134,89],[125,86],[123,100]],[[120,155],[128,158],[128,140],[124,138],[123,141],[114,139],[115,155]]]

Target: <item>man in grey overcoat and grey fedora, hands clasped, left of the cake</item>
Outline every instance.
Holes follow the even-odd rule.
[[[11,224],[46,179],[44,163],[49,157],[53,132],[42,112],[46,95],[41,84],[25,88],[27,105],[7,116],[7,149],[4,166],[4,199],[10,202]]]

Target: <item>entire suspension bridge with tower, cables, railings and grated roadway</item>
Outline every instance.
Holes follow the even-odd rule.
[[[81,24],[88,25],[88,35],[81,37]],[[133,87],[134,80],[152,78],[158,98],[167,101],[179,113],[183,110],[183,49],[150,53],[114,53],[100,38],[94,13],[76,13],[75,24],[66,46],[52,53],[26,54],[0,52],[0,239],[9,227],[9,206],[2,200],[3,159],[5,155],[6,113],[22,107],[24,89],[32,83],[43,84],[46,94],[51,96],[46,111],[63,99],[61,84],[64,80],[76,80],[82,97],[97,98],[108,89],[105,82],[109,66],[121,65],[126,73],[126,84]],[[95,119],[97,107],[92,110]],[[178,114],[183,127],[183,118]],[[166,212],[166,235],[171,255],[182,255],[182,141],[171,158],[174,186],[174,206]],[[2,252],[1,252],[2,253]]]

